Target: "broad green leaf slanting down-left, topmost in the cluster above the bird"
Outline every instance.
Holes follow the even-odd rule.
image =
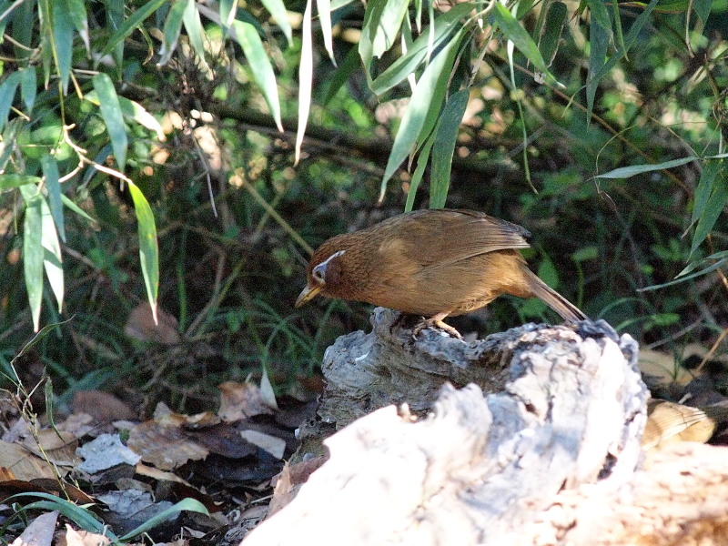
[[[471,9],[472,5],[469,3],[458,4],[446,14],[435,19],[432,43],[434,49],[440,47],[455,30],[460,30],[462,27],[460,19],[468,15]],[[375,95],[381,95],[407,79],[427,58],[430,46],[429,40],[430,31],[429,27],[427,27],[420,37],[410,45],[405,55],[400,56],[371,82],[372,92]]]

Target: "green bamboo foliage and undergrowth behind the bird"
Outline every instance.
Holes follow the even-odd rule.
[[[369,313],[293,309],[310,248],[411,207],[519,223],[590,317],[720,354],[726,9],[0,2],[8,385],[46,373],[61,406],[103,387],[189,411],[267,370],[295,394]],[[147,300],[174,343],[125,331]],[[453,324],[554,319],[501,298]]]

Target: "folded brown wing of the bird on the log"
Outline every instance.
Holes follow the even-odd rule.
[[[521,226],[486,214],[448,208],[418,210],[399,217],[407,237],[387,238],[379,252],[409,258],[420,268],[447,266],[506,248],[529,248]]]

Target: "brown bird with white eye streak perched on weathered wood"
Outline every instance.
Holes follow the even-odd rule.
[[[472,210],[435,208],[391,217],[329,238],[308,263],[308,283],[296,307],[318,296],[365,301],[426,319],[488,305],[501,294],[541,298],[563,319],[586,319],[578,308],[531,272],[517,248],[528,248],[523,227]]]

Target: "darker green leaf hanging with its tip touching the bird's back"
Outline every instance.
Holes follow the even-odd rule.
[[[465,108],[468,106],[470,88],[465,88],[450,96],[442,110],[438,128],[435,131],[435,144],[432,148],[432,172],[430,174],[430,208],[445,207],[450,187],[452,154],[458,139],[458,129]]]

